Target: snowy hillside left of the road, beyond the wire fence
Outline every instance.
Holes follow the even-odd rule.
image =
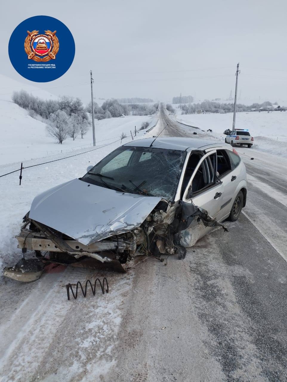
[[[92,127],[81,139],[78,136],[74,141],[66,139],[63,144],[57,144],[55,139],[47,136],[45,123],[28,115],[27,110],[11,101],[13,91],[24,89],[43,99],[56,99],[55,95],[45,92],[37,87],[19,83],[8,77],[0,76],[0,120],[1,143],[0,165],[14,162],[24,162],[32,158],[47,157],[57,153],[73,153],[85,147],[92,146]],[[102,101],[104,100],[97,100]],[[152,117],[128,116],[125,118],[110,118],[109,120],[95,121],[96,142],[115,140],[122,132],[130,135],[134,127],[140,128],[143,121],[152,121]]]

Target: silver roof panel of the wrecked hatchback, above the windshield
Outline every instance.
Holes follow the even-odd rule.
[[[154,141],[153,138],[138,139],[136,141],[131,141],[123,146],[139,146],[139,147],[150,147],[150,144]],[[153,142],[152,147],[158,149],[170,149],[170,150],[180,150],[180,151],[192,151],[192,150],[205,150],[212,147],[224,147],[228,146],[222,142],[216,142],[208,139],[201,138],[188,138],[188,137],[164,137],[156,138]]]

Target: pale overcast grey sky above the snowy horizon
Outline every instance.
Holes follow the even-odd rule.
[[[92,69],[97,97],[226,99],[240,62],[241,98],[286,100],[286,13],[285,0],[3,1],[0,73],[31,83],[12,67],[8,41],[21,21],[44,14],[66,24],[76,43],[66,74],[31,83],[53,94],[86,103]]]

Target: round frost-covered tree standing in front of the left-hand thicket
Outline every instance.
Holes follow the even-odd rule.
[[[62,144],[69,134],[69,117],[63,110],[57,110],[52,113],[46,126],[48,135],[56,138],[58,143]]]

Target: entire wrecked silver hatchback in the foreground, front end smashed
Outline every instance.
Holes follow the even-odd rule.
[[[35,197],[16,236],[22,259],[4,275],[33,281],[45,262],[126,271],[148,254],[184,259],[212,227],[238,219],[246,170],[232,147],[191,138],[146,138]],[[48,257],[46,254],[49,254]],[[43,256],[44,254],[44,256]]]

